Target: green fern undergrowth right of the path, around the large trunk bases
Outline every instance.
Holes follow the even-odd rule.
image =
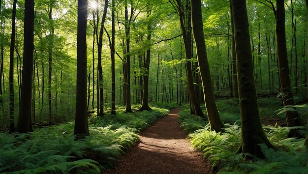
[[[220,110],[222,119],[234,115],[234,109],[225,112],[225,108],[231,108],[234,101],[223,101],[224,109]],[[229,104],[228,104],[229,103]],[[260,108],[266,111],[266,100],[261,101]],[[231,106],[230,106],[231,104]],[[264,105],[263,105],[264,104]],[[219,107],[218,107],[219,109]],[[272,108],[271,111],[274,109]],[[232,114],[230,114],[232,113]],[[203,152],[212,165],[212,170],[219,174],[307,174],[307,151],[304,145],[305,139],[287,138],[289,127],[264,126],[264,131],[270,142],[277,150],[260,144],[265,159],[249,155],[250,160],[245,159],[243,154],[237,154],[241,142],[240,122],[234,119],[224,119],[227,123],[224,133],[210,131],[207,120],[189,114],[189,108],[182,109],[180,123],[194,148]],[[276,115],[273,111],[272,115]],[[273,117],[274,117],[273,116]],[[231,120],[229,123],[226,120]],[[293,127],[299,129],[300,127]],[[301,127],[303,129],[303,127]],[[304,132],[303,132],[304,133]]]

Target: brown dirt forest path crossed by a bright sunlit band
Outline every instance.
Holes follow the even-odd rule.
[[[211,166],[194,150],[173,109],[139,135],[140,142],[107,174],[212,174]]]

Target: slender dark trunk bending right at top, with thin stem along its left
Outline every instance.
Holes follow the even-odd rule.
[[[102,52],[102,45],[103,45],[103,31],[104,31],[104,25],[105,25],[105,19],[107,15],[107,8],[108,8],[108,0],[105,0],[105,6],[104,6],[104,12],[103,12],[103,17],[100,23],[100,30],[99,30],[99,40],[97,43],[97,54],[98,54],[98,59],[97,59],[97,68],[98,68],[98,86],[99,86],[99,103],[100,103],[100,112],[99,116],[104,115],[104,93],[103,93],[103,70],[102,70],[102,65],[101,65],[101,52]],[[96,9],[96,16],[97,16],[97,24],[98,24],[98,7]],[[97,26],[98,28],[98,26]],[[97,33],[97,32],[96,32]],[[97,35],[96,35],[97,38]],[[97,98],[98,100],[98,98]]]

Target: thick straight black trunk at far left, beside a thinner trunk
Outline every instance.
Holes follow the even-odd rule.
[[[32,64],[33,64],[33,30],[34,0],[25,1],[24,24],[24,61],[21,85],[20,109],[16,131],[32,132]]]

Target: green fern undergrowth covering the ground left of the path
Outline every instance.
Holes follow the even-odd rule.
[[[138,141],[140,130],[168,113],[153,111],[89,117],[90,136],[76,140],[74,123],[34,129],[28,134],[0,133],[0,173],[88,173],[113,168],[117,158]]]

